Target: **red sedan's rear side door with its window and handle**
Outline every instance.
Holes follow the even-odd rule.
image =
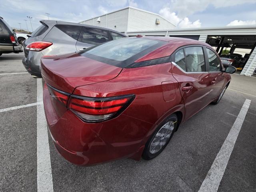
[[[185,104],[185,119],[210,103],[211,82],[203,46],[185,46],[172,54],[172,74]]]

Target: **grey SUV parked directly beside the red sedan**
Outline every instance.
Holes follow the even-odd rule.
[[[88,47],[126,35],[107,28],[85,24],[42,20],[31,37],[23,42],[25,58],[22,63],[34,76],[41,77],[40,59],[42,56],[77,52]]]

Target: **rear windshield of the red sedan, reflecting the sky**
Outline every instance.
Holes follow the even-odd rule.
[[[166,44],[164,41],[146,38],[120,38],[88,48],[80,54],[84,57],[124,68],[164,44]]]

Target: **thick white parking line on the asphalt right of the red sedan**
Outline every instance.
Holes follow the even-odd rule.
[[[244,122],[251,100],[246,99],[198,192],[216,192]]]

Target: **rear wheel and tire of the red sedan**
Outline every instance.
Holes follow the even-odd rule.
[[[142,158],[150,160],[158,156],[170,142],[178,125],[176,114],[166,118],[154,131],[147,141]]]

